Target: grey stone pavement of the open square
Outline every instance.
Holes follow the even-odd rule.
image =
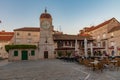
[[[120,80],[120,70],[92,71],[78,63],[57,59],[1,61],[0,80]]]

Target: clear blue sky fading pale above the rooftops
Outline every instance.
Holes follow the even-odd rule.
[[[0,0],[0,31],[40,27],[39,17],[46,7],[55,30],[78,34],[113,17],[120,21],[119,4],[120,0]]]

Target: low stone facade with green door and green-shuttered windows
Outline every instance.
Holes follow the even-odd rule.
[[[8,61],[37,60],[38,59],[37,53],[38,50],[35,49],[12,49],[9,50]]]

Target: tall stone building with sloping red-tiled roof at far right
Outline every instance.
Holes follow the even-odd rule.
[[[86,27],[80,30],[80,34],[90,34],[94,41],[94,51],[105,55],[114,54],[115,46],[119,50],[120,23],[115,18],[111,18],[97,26]],[[120,55],[116,51],[115,55]]]

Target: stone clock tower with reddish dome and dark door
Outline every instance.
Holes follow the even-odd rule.
[[[40,15],[39,58],[54,58],[52,17],[46,9]]]

